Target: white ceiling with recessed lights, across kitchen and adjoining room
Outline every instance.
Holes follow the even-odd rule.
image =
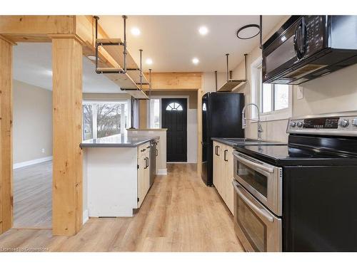
[[[283,16],[263,16],[263,36],[269,33]],[[258,46],[259,38],[240,40],[236,31],[248,23],[258,23],[258,16],[129,16],[127,19],[128,50],[139,64],[139,49],[146,58],[154,61],[153,72],[170,71],[226,71],[225,54],[230,53],[230,69],[243,61],[243,54]],[[123,38],[121,16],[101,16],[99,25],[111,38]],[[208,34],[198,33],[200,26]],[[133,36],[131,28],[140,29]],[[192,58],[198,58],[197,66]],[[124,93],[104,75],[96,74],[94,63],[83,60],[84,93]],[[14,78],[41,88],[52,88],[51,43],[19,43],[14,46]]]

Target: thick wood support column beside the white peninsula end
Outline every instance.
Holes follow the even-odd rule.
[[[53,234],[73,236],[82,226],[82,46],[76,38],[52,37]]]

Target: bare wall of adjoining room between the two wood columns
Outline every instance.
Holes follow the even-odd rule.
[[[52,92],[14,80],[13,101],[14,164],[51,157]]]

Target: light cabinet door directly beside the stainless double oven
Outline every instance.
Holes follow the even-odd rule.
[[[234,196],[234,189],[233,189],[233,147],[226,148],[226,170],[225,170],[225,184],[226,184],[226,205],[228,209],[233,214],[233,196]]]

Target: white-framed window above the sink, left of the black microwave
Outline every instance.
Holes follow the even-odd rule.
[[[261,58],[251,64],[251,102],[261,112],[261,120],[283,120],[291,117],[291,85],[263,83]],[[258,117],[252,108],[254,118]]]

